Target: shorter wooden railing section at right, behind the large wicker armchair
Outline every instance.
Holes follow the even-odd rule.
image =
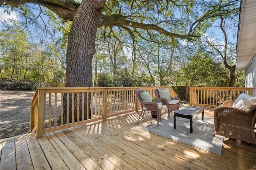
[[[190,87],[190,106],[218,107],[224,101],[232,100],[241,93],[252,95],[254,88],[246,87]]]

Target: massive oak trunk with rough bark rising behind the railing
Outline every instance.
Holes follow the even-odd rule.
[[[66,56],[66,87],[92,87],[92,57],[95,53],[95,38],[98,23],[104,8],[104,0],[83,0],[70,28]],[[86,103],[85,94],[85,103]],[[76,94],[77,96],[77,94]],[[77,97],[75,96],[75,121],[77,120]],[[82,95],[80,95],[82,96]],[[64,95],[64,118],[66,116],[66,94]],[[90,98],[89,98],[90,101]],[[85,106],[86,107],[86,106]],[[86,108],[85,108],[86,111]],[[69,97],[69,115],[72,115],[72,97]],[[80,97],[80,113],[82,98]],[[80,114],[82,115],[82,114]],[[90,115],[90,114],[89,114]],[[69,116],[70,117],[70,116]],[[80,116],[81,117],[81,116]],[[86,114],[85,114],[86,118]],[[71,121],[71,117],[69,119]],[[80,119],[82,120],[82,119]]]

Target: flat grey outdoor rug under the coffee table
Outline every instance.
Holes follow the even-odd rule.
[[[204,121],[202,121],[201,115],[194,118],[193,133],[190,133],[190,119],[176,117],[176,129],[173,128],[173,119],[173,115],[170,118],[162,117],[159,127],[157,127],[157,122],[155,122],[142,127],[142,129],[221,155],[223,136],[212,136],[214,133],[213,117],[204,116]]]

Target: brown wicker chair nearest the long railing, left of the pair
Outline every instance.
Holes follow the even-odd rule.
[[[156,111],[157,126],[159,126],[159,121],[161,121],[162,105],[160,104],[160,108],[159,108],[157,103],[161,103],[161,101],[158,99],[155,99],[155,100],[152,100],[152,102],[143,102],[142,99],[140,98],[141,91],[143,91],[143,90],[142,89],[135,90],[136,97],[137,97],[138,101],[140,102],[140,106],[142,109],[142,111],[140,113],[140,117],[141,117],[142,113],[143,113],[143,115],[142,115],[142,119],[143,119],[145,112],[151,113],[151,111]],[[143,107],[143,105],[144,105],[144,107]],[[137,123],[139,122],[140,117],[139,117]]]

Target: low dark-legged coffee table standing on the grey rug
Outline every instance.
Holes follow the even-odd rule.
[[[192,106],[188,106],[185,107],[184,109],[180,109],[178,111],[174,112],[174,126],[173,128],[176,128],[176,116],[177,117],[183,117],[183,118],[187,118],[190,119],[190,133],[193,133],[193,119],[195,117],[197,117],[197,115],[199,115],[200,113],[202,113],[202,121],[204,121],[204,108],[203,107],[192,107]]]

